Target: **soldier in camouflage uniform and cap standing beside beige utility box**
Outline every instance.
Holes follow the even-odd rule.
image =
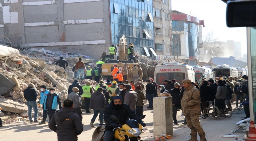
[[[207,141],[205,132],[200,125],[200,91],[191,85],[191,80],[185,79],[182,81],[185,92],[181,100],[181,107],[184,116],[187,120],[187,127],[191,129],[191,139],[189,141],[197,141],[197,132],[200,136],[200,141]]]

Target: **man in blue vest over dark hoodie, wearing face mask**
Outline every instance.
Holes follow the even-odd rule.
[[[59,104],[59,108],[58,108]],[[61,109],[61,101],[59,98],[59,94],[55,92],[54,88],[50,89],[50,93],[46,95],[45,102],[43,104],[44,110],[48,110],[48,116],[49,116],[49,122],[52,119],[53,114],[56,112],[56,110]]]

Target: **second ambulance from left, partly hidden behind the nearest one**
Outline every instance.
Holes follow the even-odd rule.
[[[198,80],[203,74],[208,74],[208,79],[214,79],[213,71],[210,68],[205,66],[193,66],[195,71],[196,80]]]

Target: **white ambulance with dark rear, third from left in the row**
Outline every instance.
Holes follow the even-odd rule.
[[[212,68],[212,71],[214,77],[232,76],[234,78],[235,76],[238,76],[238,71],[234,67],[219,66]]]

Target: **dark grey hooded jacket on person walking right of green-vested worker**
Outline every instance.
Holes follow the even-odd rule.
[[[99,109],[104,109],[106,106],[106,98],[104,96],[103,92],[100,92],[99,90],[96,90],[91,94],[91,99],[90,99],[90,109],[93,110],[99,110]]]

